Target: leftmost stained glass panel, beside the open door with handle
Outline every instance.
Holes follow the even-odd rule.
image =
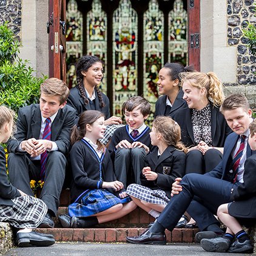
[[[83,55],[83,16],[75,0],[67,4],[67,85],[76,85],[75,63]]]

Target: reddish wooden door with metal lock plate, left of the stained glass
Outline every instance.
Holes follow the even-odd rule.
[[[66,81],[66,0],[49,0],[49,77]]]

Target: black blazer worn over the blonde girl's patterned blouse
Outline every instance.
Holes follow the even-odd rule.
[[[224,116],[220,113],[217,107],[211,104],[211,131],[212,131],[212,146],[223,147],[224,141],[227,135],[229,135],[232,130],[227,125]],[[192,109],[187,107],[186,109],[178,110],[173,119],[177,121],[181,128],[181,141],[187,146],[197,146],[194,140],[194,133],[192,128],[191,120]]]

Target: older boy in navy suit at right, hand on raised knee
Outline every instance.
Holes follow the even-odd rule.
[[[221,204],[232,201],[232,192],[243,184],[244,162],[255,151],[248,146],[252,110],[243,95],[227,97],[220,108],[227,124],[233,130],[224,144],[223,159],[211,172],[204,175],[189,173],[172,184],[173,198],[150,229],[139,237],[127,237],[130,243],[163,243],[165,229],[172,231],[187,210],[197,221],[201,231],[196,240],[223,235],[214,217]],[[237,154],[239,152],[239,154]],[[236,157],[239,156],[239,161]],[[233,161],[235,160],[235,163]]]

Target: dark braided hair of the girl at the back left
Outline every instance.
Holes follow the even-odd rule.
[[[81,58],[78,59],[76,62],[76,81],[77,81],[77,87],[79,92],[81,93],[84,104],[88,104],[89,101],[86,97],[86,90],[84,89],[84,83],[83,83],[83,74],[82,72],[87,72],[90,67],[96,62],[100,62],[103,64],[103,61],[99,59],[97,56],[91,56],[91,55],[84,55]],[[105,107],[106,103],[103,101],[103,96],[101,92],[99,91],[98,87],[95,86],[96,93],[99,97],[99,106]]]

